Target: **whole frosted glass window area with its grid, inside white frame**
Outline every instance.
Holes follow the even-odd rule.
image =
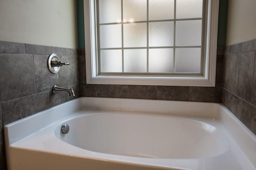
[[[102,75],[203,73],[203,0],[97,1]]]

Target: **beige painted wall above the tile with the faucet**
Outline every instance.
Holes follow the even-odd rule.
[[[0,0],[0,41],[78,48],[76,0]]]

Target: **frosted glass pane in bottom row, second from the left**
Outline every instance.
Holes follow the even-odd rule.
[[[124,72],[147,72],[147,50],[124,50]]]

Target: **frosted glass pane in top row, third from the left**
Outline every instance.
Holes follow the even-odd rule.
[[[174,19],[174,0],[149,0],[149,20]]]

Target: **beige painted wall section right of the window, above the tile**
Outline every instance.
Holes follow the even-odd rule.
[[[228,0],[226,45],[256,38],[256,0]]]

